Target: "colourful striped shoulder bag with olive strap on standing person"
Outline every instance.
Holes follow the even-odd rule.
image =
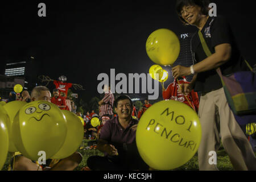
[[[201,31],[198,31],[198,34],[204,52],[209,57],[212,53],[205,42],[203,34]],[[239,118],[243,115],[251,118],[247,122],[243,121],[243,124],[256,122],[256,76],[246,60],[245,63],[251,71],[241,71],[233,73],[231,76],[224,76],[220,68],[216,69],[221,78],[226,99],[236,119],[240,120]],[[238,123],[241,122],[238,121]]]

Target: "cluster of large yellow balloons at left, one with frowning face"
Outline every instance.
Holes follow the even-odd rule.
[[[31,160],[38,160],[40,151],[46,159],[63,159],[79,148],[83,137],[80,118],[50,102],[0,105],[0,169],[6,150],[19,151]]]

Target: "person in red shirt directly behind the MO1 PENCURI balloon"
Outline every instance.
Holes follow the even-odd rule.
[[[190,93],[183,93],[181,92],[180,84],[189,84],[189,82],[186,80],[185,77],[183,77],[183,79],[180,79],[179,83],[174,80],[174,82],[172,82],[167,87],[167,89],[163,88],[163,99],[183,102],[189,107],[192,107],[192,109],[197,112],[199,109],[199,98],[197,92],[194,92],[194,90],[192,90]],[[185,96],[187,98],[185,98]]]

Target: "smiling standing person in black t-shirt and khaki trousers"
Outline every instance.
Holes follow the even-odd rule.
[[[202,140],[198,150],[199,169],[217,170],[215,164],[209,163],[209,152],[217,151],[220,146],[214,133],[217,122],[215,113],[218,110],[222,144],[234,169],[256,170],[255,155],[230,110],[221,79],[216,72],[219,67],[223,75],[248,70],[234,40],[232,28],[224,17],[209,16],[207,0],[177,0],[176,11],[183,24],[198,29],[191,41],[194,64],[191,67],[177,65],[172,68],[172,75],[174,78],[194,75],[191,84],[182,85],[183,92],[190,92],[192,89],[201,92],[199,117]],[[210,52],[213,52],[210,56],[205,53],[207,50],[202,34]]]

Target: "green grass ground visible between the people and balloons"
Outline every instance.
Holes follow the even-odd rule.
[[[75,171],[80,171],[83,167],[87,166],[86,161],[89,158],[89,156],[92,156],[92,155],[103,156],[104,155],[102,152],[95,150],[95,149],[84,150],[85,147],[88,146],[88,141],[89,140],[84,140],[84,148],[81,150],[78,150],[82,154],[83,158],[82,158],[82,162],[75,169]],[[255,155],[256,155],[256,152],[255,152]],[[7,156],[5,166],[2,169],[3,171],[7,171],[9,161],[10,161],[10,155]],[[232,171],[233,170],[233,167],[232,167],[232,164],[230,163],[229,157],[226,154],[226,152],[222,146],[220,147],[220,150],[217,152],[217,167],[221,171]],[[174,171],[198,171],[198,170],[199,170],[199,167],[198,167],[197,154],[195,154],[195,156],[193,156],[193,158],[191,160],[189,160],[183,166],[174,169]]]

